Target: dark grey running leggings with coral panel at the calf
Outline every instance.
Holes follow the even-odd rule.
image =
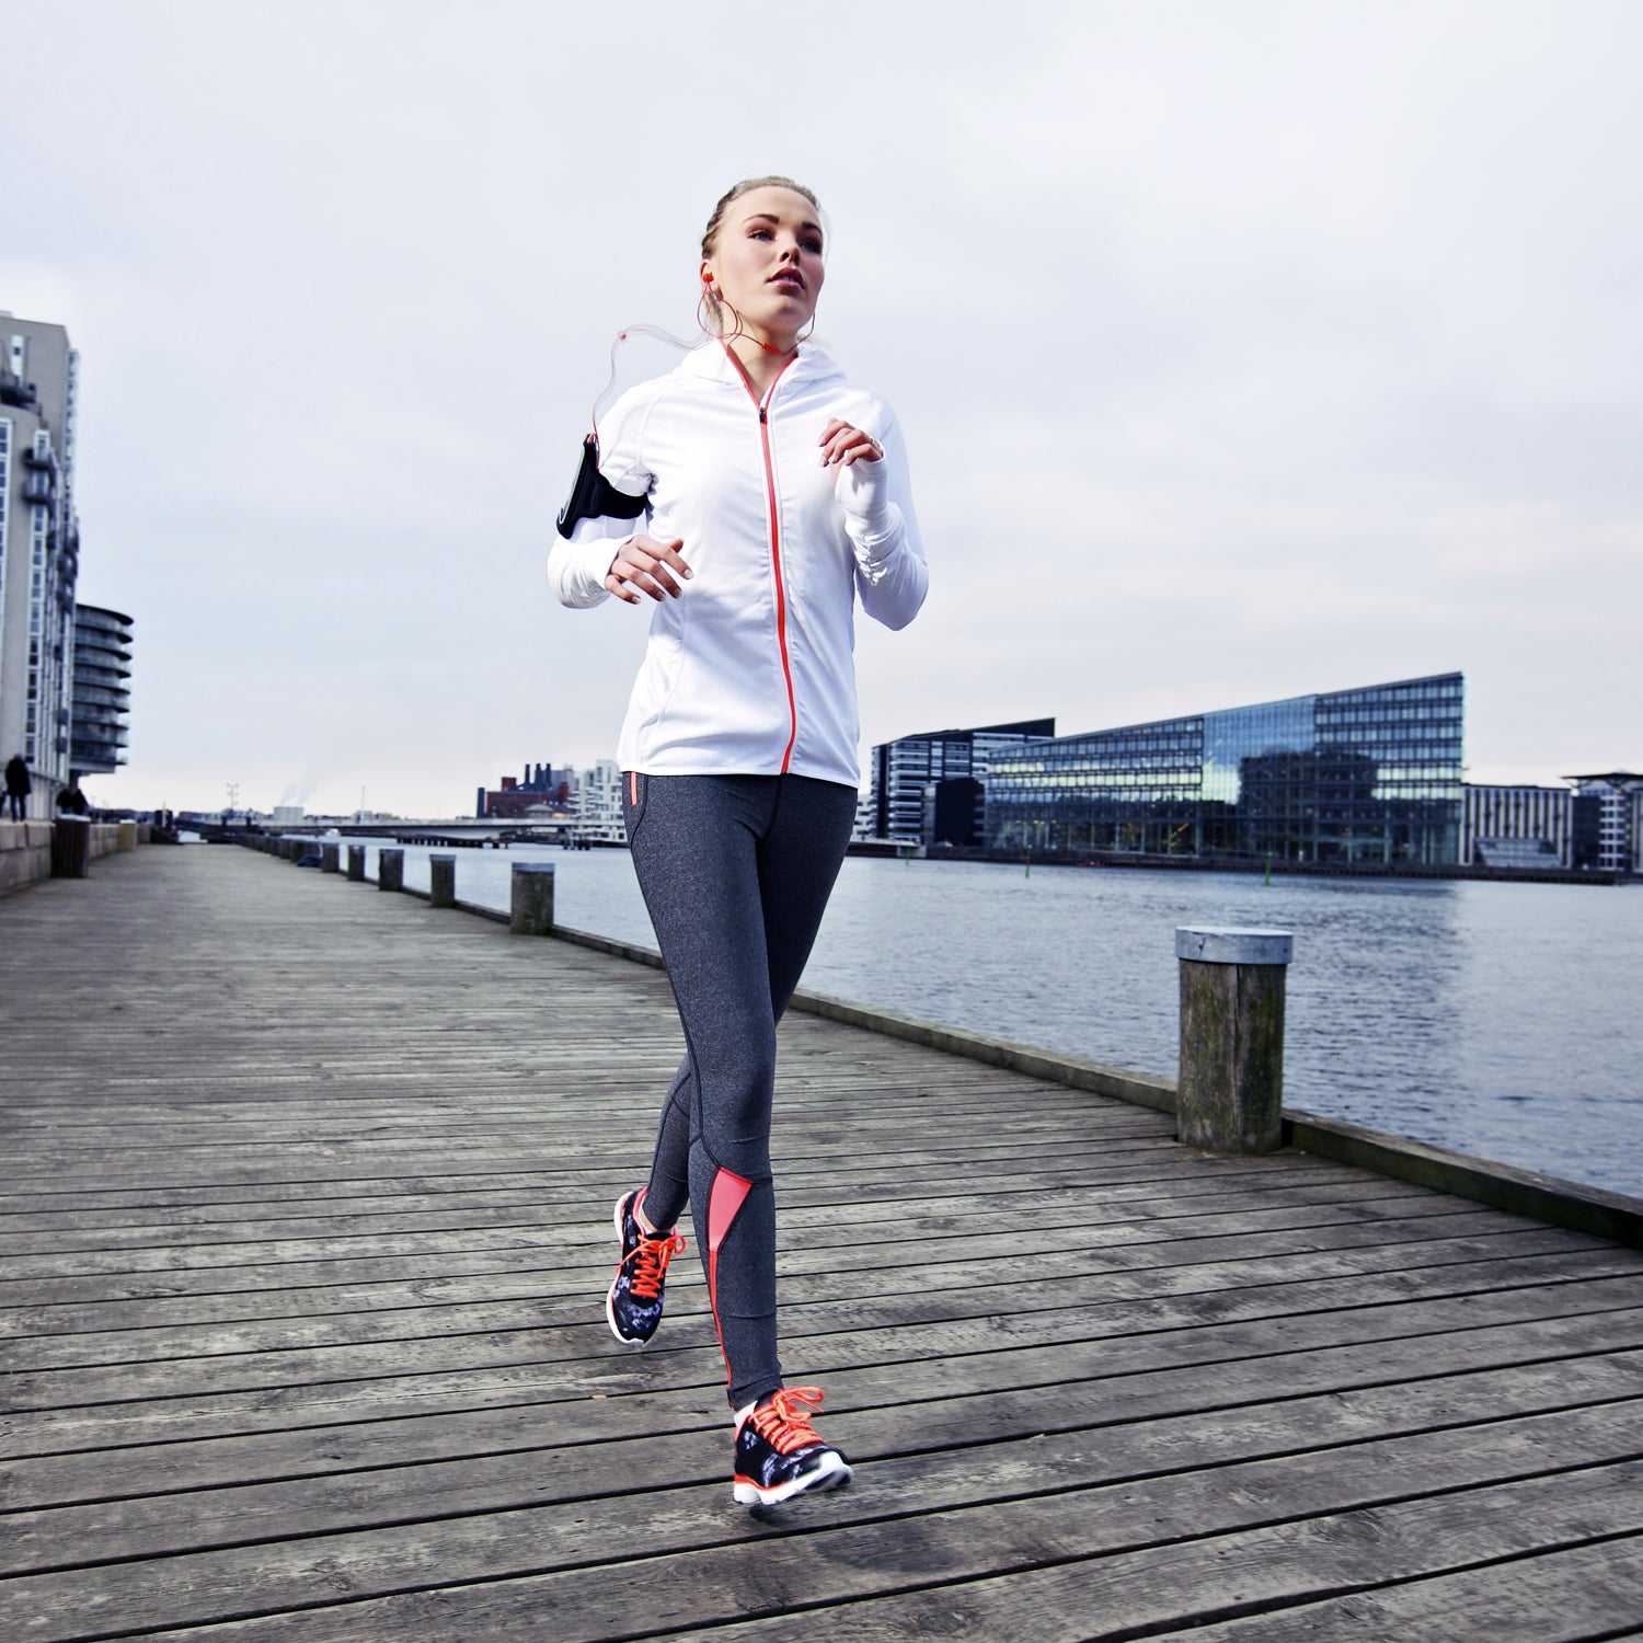
[[[775,1357],[775,1024],[838,877],[856,790],[807,775],[623,775],[639,889],[685,1060],[662,1106],[644,1213],[692,1208],[731,1408],[782,1385]]]

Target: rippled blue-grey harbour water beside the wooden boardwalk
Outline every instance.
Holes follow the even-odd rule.
[[[453,854],[462,900],[552,861],[560,923],[656,945],[626,851]],[[851,859],[805,986],[1173,1078],[1191,923],[1295,933],[1286,1106],[1643,1196],[1643,887]]]

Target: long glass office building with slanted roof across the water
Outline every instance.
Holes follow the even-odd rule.
[[[1461,859],[1459,674],[999,752],[987,843],[1226,859]]]

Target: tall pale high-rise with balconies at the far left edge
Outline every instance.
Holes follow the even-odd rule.
[[[71,769],[77,383],[61,325],[0,312],[0,759],[28,762],[36,815]]]

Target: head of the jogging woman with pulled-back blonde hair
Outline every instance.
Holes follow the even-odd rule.
[[[822,225],[792,189],[749,189],[725,210],[702,279],[741,315],[743,330],[779,347],[810,324],[822,296]]]

